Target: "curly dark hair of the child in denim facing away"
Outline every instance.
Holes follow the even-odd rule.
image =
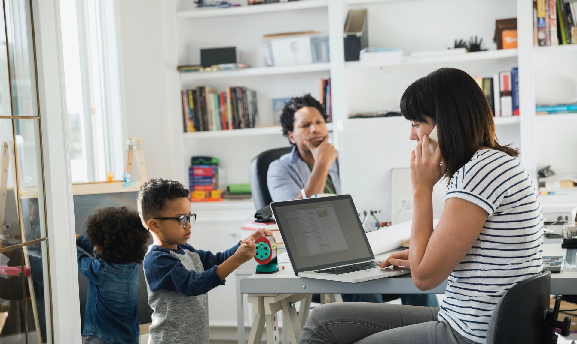
[[[138,213],[127,207],[104,207],[88,217],[86,236],[95,254],[107,263],[141,263],[147,252],[148,232]]]

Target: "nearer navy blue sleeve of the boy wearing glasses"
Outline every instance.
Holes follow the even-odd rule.
[[[198,296],[224,285],[224,281],[216,274],[216,266],[197,273],[186,269],[178,258],[161,251],[148,252],[143,267],[148,286],[153,292],[162,289],[185,296]]]

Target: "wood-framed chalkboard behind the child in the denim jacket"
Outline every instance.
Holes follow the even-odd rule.
[[[74,224],[76,226],[76,233],[84,235],[86,231],[86,220],[96,209],[107,206],[126,206],[128,209],[136,211],[137,194],[138,192],[134,191],[74,196]],[[148,240],[147,245],[149,244],[152,244],[152,236]],[[80,289],[80,319],[84,326],[84,309],[86,308],[88,278],[81,273],[78,273],[78,288]],[[150,323],[152,321],[152,308],[148,305],[148,293],[142,265],[140,266],[140,273],[138,273],[137,305],[138,324]]]

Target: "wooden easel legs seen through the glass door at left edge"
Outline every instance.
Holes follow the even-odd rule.
[[[4,234],[5,220],[6,220],[6,200],[8,198],[8,172],[10,168],[10,161],[14,161],[14,169],[12,173],[12,182],[14,190],[14,198],[18,203],[18,188],[17,181],[22,180],[20,175],[20,169],[16,168],[16,154],[14,154],[14,141],[2,141],[0,142],[0,235]],[[20,219],[22,216],[21,206],[17,204],[18,217]],[[20,220],[22,222],[22,220]],[[26,230],[24,226],[20,226],[20,235],[22,241],[26,241]],[[2,248],[2,241],[0,240],[0,248]],[[23,276],[25,276],[25,271],[30,270],[30,258],[28,256],[28,246],[22,247],[22,253],[24,256],[24,267],[22,269]],[[36,325],[36,337],[38,338],[38,343],[42,343],[42,330],[40,329],[40,320],[38,318],[38,307],[36,305],[36,294],[34,293],[34,283],[32,282],[32,274],[29,274],[26,279],[28,280],[28,289],[30,291],[30,301],[32,303],[32,314],[34,317],[34,324]],[[25,296],[24,296],[25,297]],[[46,319],[46,317],[45,317]]]

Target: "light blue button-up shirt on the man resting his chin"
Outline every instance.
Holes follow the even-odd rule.
[[[336,193],[340,194],[338,159],[329,168],[328,175],[331,177]],[[295,199],[301,194],[301,189],[305,188],[309,178],[309,165],[301,159],[297,146],[294,146],[293,152],[284,154],[279,160],[271,162],[268,167],[267,185],[272,201]]]

